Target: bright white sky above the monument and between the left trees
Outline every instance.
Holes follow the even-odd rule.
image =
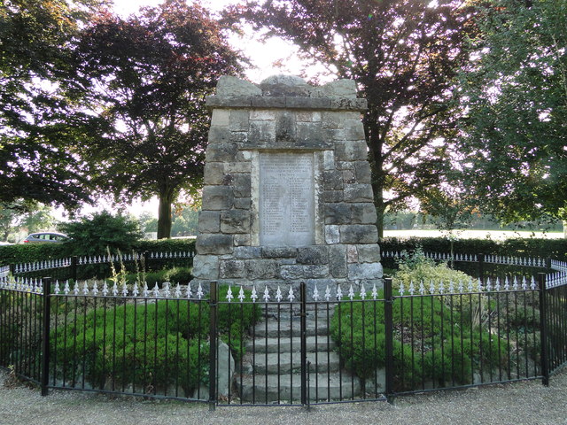
[[[188,3],[190,0],[188,0]],[[126,18],[132,13],[136,13],[141,7],[155,6],[161,0],[114,0],[114,12]],[[206,9],[212,12],[220,12],[229,4],[241,3],[241,0],[201,0],[200,2]],[[252,68],[247,70],[247,78],[255,83],[259,83],[270,75],[276,73],[287,73],[298,75],[301,73],[301,62],[297,58],[297,49],[290,43],[279,39],[270,39],[268,42],[260,42],[250,31],[243,37],[232,36],[229,42],[238,50],[242,50],[247,58],[251,59]],[[283,60],[282,60],[283,59]],[[274,63],[282,60],[283,67],[276,67]],[[316,68],[307,70],[311,76],[317,71]],[[112,211],[113,206],[103,200],[95,206],[86,206],[82,209],[82,214],[94,213],[103,209]],[[158,216],[158,200],[153,199],[149,202],[135,202],[130,208],[130,213],[139,216],[143,212],[149,212],[155,217]],[[63,219],[62,211],[57,212],[58,219]]]

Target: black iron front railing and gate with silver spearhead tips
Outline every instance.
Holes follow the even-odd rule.
[[[49,389],[234,405],[392,399],[567,362],[546,275],[409,287],[0,279],[0,366]]]

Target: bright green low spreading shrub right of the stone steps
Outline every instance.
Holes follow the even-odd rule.
[[[378,298],[383,298],[381,291]],[[472,371],[505,365],[506,342],[478,328],[462,307],[451,311],[438,297],[398,298],[392,306],[393,367],[397,390],[417,383],[470,383]],[[410,332],[413,337],[409,338]],[[330,333],[345,366],[369,379],[385,366],[384,302],[340,303]],[[423,350],[422,350],[423,347]],[[423,354],[423,356],[422,356]],[[488,365],[488,366],[487,366]]]

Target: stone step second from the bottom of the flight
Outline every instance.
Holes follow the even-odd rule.
[[[301,368],[300,352],[248,353],[243,359],[243,372],[268,375],[286,375]],[[338,372],[340,359],[336,352],[307,352],[309,372]]]

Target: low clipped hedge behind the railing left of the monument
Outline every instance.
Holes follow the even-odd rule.
[[[194,251],[194,239],[161,239],[136,241],[136,251],[173,252]],[[66,243],[21,243],[0,246],[0,265],[32,263],[46,259],[64,259],[70,255]],[[100,252],[105,255],[105,252]]]

